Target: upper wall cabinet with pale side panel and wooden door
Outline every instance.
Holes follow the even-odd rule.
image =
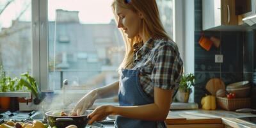
[[[216,31],[237,29],[235,1],[202,0],[202,27],[203,30]]]

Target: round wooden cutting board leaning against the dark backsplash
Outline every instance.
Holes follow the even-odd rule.
[[[223,81],[219,78],[212,78],[210,79],[206,86],[205,86],[205,89],[207,91],[209,91],[212,95],[216,96],[216,92],[220,89],[223,89],[225,90],[226,86],[225,84],[223,83]]]

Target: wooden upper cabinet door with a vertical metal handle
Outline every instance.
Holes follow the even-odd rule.
[[[234,0],[221,0],[221,17],[223,25],[238,25]]]

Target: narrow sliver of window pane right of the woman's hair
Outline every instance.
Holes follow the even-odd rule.
[[[173,38],[173,3],[172,0],[157,0],[160,18],[164,29]]]

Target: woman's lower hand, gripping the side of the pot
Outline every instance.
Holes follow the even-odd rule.
[[[108,115],[111,115],[113,106],[99,106],[98,108],[94,109],[88,118],[90,119],[88,124],[92,124],[95,121],[104,120]]]

